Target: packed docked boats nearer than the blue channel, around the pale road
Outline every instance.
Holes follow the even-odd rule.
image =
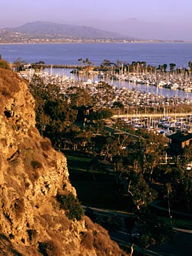
[[[68,95],[68,88],[75,88],[81,87],[86,88],[92,96],[99,96],[100,101],[99,104],[113,108],[114,102],[121,102],[125,108],[127,108],[127,113],[129,112],[129,108],[134,107],[135,111],[132,115],[132,118],[126,119],[126,122],[133,125],[134,128],[148,128],[152,129],[157,133],[167,134],[171,133],[172,131],[177,130],[187,130],[191,129],[192,123],[192,111],[190,111],[189,116],[186,118],[167,118],[169,113],[166,112],[167,107],[175,107],[177,105],[188,105],[191,102],[187,101],[180,101],[179,98],[170,97],[167,98],[164,95],[157,95],[151,92],[141,92],[135,91],[132,89],[128,89],[126,87],[118,87],[118,86],[110,86],[108,91],[104,89],[101,90],[101,85],[98,82],[92,82],[91,79],[87,81],[79,81],[74,80],[72,78],[68,78],[66,75],[58,75],[58,74],[50,74],[49,72],[21,72],[20,75],[25,79],[32,78],[32,75],[37,75],[38,77],[42,78],[45,85],[58,85],[61,88],[62,94]],[[106,95],[108,94],[108,95]],[[109,95],[114,95],[114,97],[109,97]],[[106,97],[108,96],[108,97]],[[108,98],[108,100],[106,100]],[[95,105],[95,107],[100,107],[99,105]],[[139,112],[137,108],[144,107],[145,112],[142,114],[143,118],[139,117]],[[161,107],[164,109],[161,118],[149,118],[147,117],[147,108],[150,107]]]

